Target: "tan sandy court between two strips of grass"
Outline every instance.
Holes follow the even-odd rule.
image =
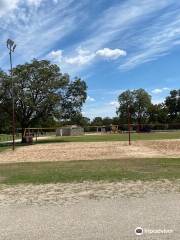
[[[120,158],[180,157],[179,140],[127,142],[50,143],[0,153],[0,163],[71,161]]]

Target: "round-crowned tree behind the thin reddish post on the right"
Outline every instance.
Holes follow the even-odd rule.
[[[127,123],[128,107],[131,113],[131,121],[137,122],[140,128],[142,122],[148,119],[148,108],[151,105],[151,96],[142,88],[137,90],[127,90],[118,97],[119,115],[121,123]],[[140,130],[140,129],[139,129]]]

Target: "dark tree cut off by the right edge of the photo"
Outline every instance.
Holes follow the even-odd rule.
[[[170,91],[166,97],[165,105],[168,108],[170,121],[177,121],[180,117],[180,89]]]

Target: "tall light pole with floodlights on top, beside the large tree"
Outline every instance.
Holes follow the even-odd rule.
[[[16,44],[11,39],[7,40],[7,48],[9,49],[9,57],[10,57],[10,68],[11,68],[11,86],[12,86],[12,137],[13,144],[12,149],[15,149],[15,106],[14,106],[14,81],[13,81],[13,67],[12,67],[12,53],[16,48]]]

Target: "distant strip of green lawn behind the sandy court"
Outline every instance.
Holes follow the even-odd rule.
[[[137,140],[165,140],[180,139],[180,131],[177,132],[156,132],[156,133],[132,133],[132,141]],[[128,134],[102,134],[102,135],[82,135],[68,137],[41,138],[37,143],[50,142],[104,142],[104,141],[128,141]]]

